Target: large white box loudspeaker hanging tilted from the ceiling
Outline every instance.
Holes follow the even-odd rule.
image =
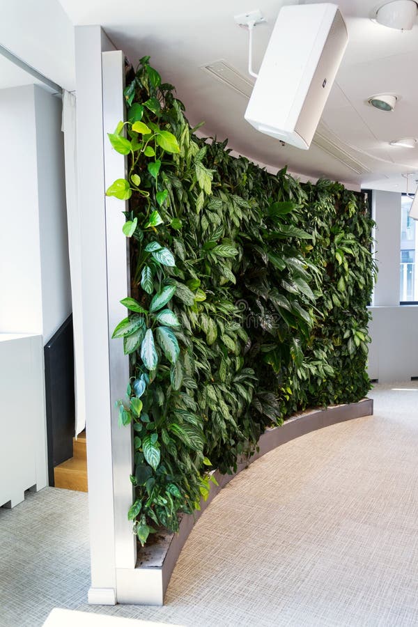
[[[281,8],[245,119],[258,131],[307,150],[347,43],[335,4]]]

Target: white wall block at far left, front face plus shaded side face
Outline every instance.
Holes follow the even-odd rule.
[[[71,311],[61,100],[0,90],[0,332],[44,344]]]

